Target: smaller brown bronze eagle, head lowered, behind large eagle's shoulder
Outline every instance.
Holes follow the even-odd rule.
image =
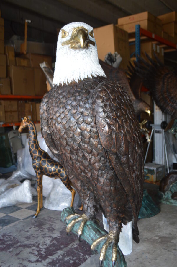
[[[146,112],[150,115],[150,106],[141,99],[140,95],[142,79],[135,71],[132,72],[132,64],[129,63],[129,72],[126,73],[125,70],[114,68],[100,59],[99,63],[109,80],[116,81],[123,86],[132,101],[136,116],[140,115],[141,112]]]

